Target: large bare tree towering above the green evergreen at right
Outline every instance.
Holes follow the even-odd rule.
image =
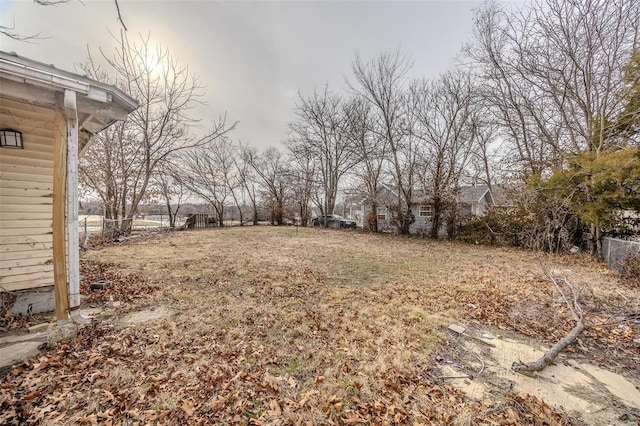
[[[483,69],[485,94],[525,176],[616,146],[611,129],[625,108],[624,69],[639,27],[640,3],[632,0],[539,0],[522,13],[490,3],[478,11],[467,51]],[[601,226],[590,226],[599,252]]]

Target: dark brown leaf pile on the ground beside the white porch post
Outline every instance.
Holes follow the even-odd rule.
[[[85,296],[83,301],[89,304],[110,300],[132,302],[159,289],[140,272],[126,270],[114,263],[83,260],[80,264],[80,274],[80,294]],[[97,281],[109,281],[111,284],[104,290],[92,290],[91,283]]]

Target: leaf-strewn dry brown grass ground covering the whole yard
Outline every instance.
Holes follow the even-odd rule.
[[[638,378],[640,294],[590,259],[423,239],[245,227],[83,256],[75,339],[5,372],[0,424],[576,424],[528,395],[436,378],[451,321],[540,342],[572,326],[544,269],[588,285],[570,356]],[[106,292],[90,281],[108,279]],[[108,301],[124,302],[118,308]],[[136,311],[163,318],[131,324]]]

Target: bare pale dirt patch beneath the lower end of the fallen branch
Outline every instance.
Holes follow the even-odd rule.
[[[480,339],[451,333],[450,349],[440,360],[442,380],[471,398],[482,401],[505,390],[533,395],[589,425],[627,425],[626,419],[635,419],[640,414],[638,377],[624,377],[592,364],[578,363],[564,354],[541,372],[514,373],[512,362],[536,360],[546,348],[528,342],[523,336],[520,340],[502,336],[482,339],[483,334],[493,335],[477,329],[472,333]],[[478,374],[480,364],[483,368]]]

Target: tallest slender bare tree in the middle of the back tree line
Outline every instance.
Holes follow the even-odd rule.
[[[388,144],[392,176],[397,189],[397,202],[389,206],[397,231],[409,232],[415,218],[411,214],[417,164],[416,139],[410,132],[407,116],[406,75],[411,59],[400,51],[382,53],[365,62],[360,56],[352,65],[354,82],[351,90],[367,100],[380,123],[379,136]]]

